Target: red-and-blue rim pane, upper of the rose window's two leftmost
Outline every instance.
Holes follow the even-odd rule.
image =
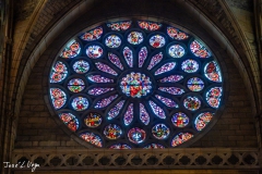
[[[60,83],[66,79],[68,76],[68,67],[61,61],[57,61],[57,63],[52,66],[50,83]]]

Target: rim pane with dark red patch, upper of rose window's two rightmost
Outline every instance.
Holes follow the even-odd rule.
[[[204,74],[206,78],[209,78],[212,82],[216,83],[222,82],[221,70],[215,61],[212,61],[204,66]]]

